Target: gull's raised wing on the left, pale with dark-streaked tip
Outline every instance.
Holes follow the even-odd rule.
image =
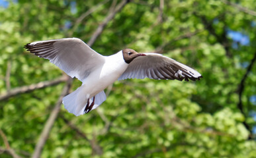
[[[49,59],[69,76],[83,82],[97,66],[105,62],[105,57],[93,51],[78,38],[53,39],[36,41],[24,45],[30,53]]]

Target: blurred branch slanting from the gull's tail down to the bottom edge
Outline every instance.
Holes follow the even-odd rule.
[[[62,98],[65,95],[67,95],[67,93],[69,92],[71,83],[72,83],[72,78],[69,77],[67,80],[67,83],[65,84],[64,89],[62,90],[62,94],[60,95],[54,109],[52,110],[52,113],[50,114],[50,117],[46,121],[44,129],[42,130],[42,133],[40,134],[40,137],[39,137],[38,143],[36,144],[36,149],[34,149],[32,158],[40,157],[44,144],[46,143],[46,140],[49,137],[50,130],[52,129],[52,126],[54,125],[54,121],[56,120],[56,118],[58,117],[58,113],[60,112],[60,107],[62,105]]]

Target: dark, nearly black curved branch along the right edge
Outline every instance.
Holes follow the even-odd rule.
[[[243,90],[245,89],[245,80],[247,79],[249,72],[251,72],[251,68],[253,68],[253,64],[255,63],[255,61],[256,61],[256,51],[254,53],[253,59],[251,59],[250,65],[247,67],[247,70],[246,70],[245,74],[243,75],[243,78],[241,79],[241,82],[240,82],[240,84],[238,86],[238,90],[237,90],[238,95],[239,95],[239,102],[237,104],[237,108],[241,111],[241,113],[245,116],[245,118],[246,118],[246,115],[245,115],[245,112],[243,111],[243,102],[242,102],[241,97],[243,95]],[[250,135],[249,135],[248,139],[251,140],[253,134],[251,132],[249,124],[247,124],[247,122],[245,122],[245,120],[243,121],[243,124],[245,125],[245,128],[247,128],[247,130],[249,130]]]

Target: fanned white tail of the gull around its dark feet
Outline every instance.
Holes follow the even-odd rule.
[[[69,95],[66,95],[63,98],[62,103],[64,103],[65,109],[69,111],[69,113],[73,113],[75,116],[83,115],[85,114],[85,106],[87,104],[87,100],[90,97],[89,93],[86,93],[86,85],[82,85],[81,87],[77,88],[74,92],[70,93]],[[106,100],[106,95],[104,91],[97,93],[95,95],[95,105],[93,106],[93,109],[101,105],[103,101]],[[90,98],[90,103],[93,101],[93,96]],[[92,110],[93,110],[92,109]]]

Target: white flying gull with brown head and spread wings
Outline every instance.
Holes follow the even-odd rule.
[[[201,74],[189,66],[157,53],[137,53],[122,49],[103,56],[78,38],[35,41],[24,48],[78,78],[83,84],[63,98],[65,109],[75,116],[89,113],[106,100],[105,88],[116,80],[200,80]]]

